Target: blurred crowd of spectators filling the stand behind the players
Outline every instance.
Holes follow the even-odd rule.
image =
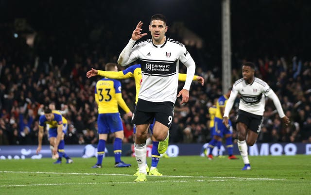
[[[189,47],[195,55],[196,49]],[[41,104],[55,102],[56,109],[68,110],[67,144],[97,143],[97,105],[94,101],[94,85],[99,77],[86,78],[91,67],[104,69],[106,59],[99,56],[79,56],[74,64],[53,64],[38,58],[34,63],[12,63],[14,56],[2,55],[0,59],[0,145],[36,145],[38,132],[37,110]],[[99,57],[99,58],[97,58]],[[116,61],[114,56],[112,61]],[[241,78],[241,59],[232,69],[232,82]],[[273,102],[267,99],[264,122],[259,142],[311,142],[311,62],[296,57],[292,62],[284,58],[259,58],[256,76],[262,78],[276,92],[290,126],[284,126],[275,111]],[[185,68],[180,66],[180,72]],[[205,78],[205,85],[193,81],[190,102],[175,104],[175,115],[170,130],[171,143],[206,143],[210,139],[208,108],[222,95],[220,65],[207,65],[204,71],[197,64],[196,74]],[[121,69],[121,67],[120,67]],[[122,97],[134,110],[135,83],[122,82]],[[179,83],[180,89],[183,83]],[[238,104],[238,100],[237,100]],[[235,105],[236,111],[238,105]],[[121,111],[124,126],[124,143],[133,142],[133,125]],[[234,121],[236,112],[231,114]],[[234,128],[235,129],[235,128]],[[47,135],[47,134],[46,134]],[[45,144],[48,144],[45,135]],[[236,133],[233,135],[236,139]],[[109,142],[112,141],[110,137]]]

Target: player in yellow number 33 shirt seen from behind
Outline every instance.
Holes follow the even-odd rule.
[[[118,71],[118,67],[116,64],[107,63],[105,65],[105,70]],[[97,124],[99,142],[97,147],[97,163],[92,168],[102,167],[108,133],[115,133],[115,140],[113,143],[115,167],[131,166],[131,164],[121,161],[121,149],[124,132],[118,105],[128,116],[132,116],[132,112],[125,104],[121,95],[121,82],[115,79],[107,78],[97,81],[95,86],[95,100],[98,104]]]

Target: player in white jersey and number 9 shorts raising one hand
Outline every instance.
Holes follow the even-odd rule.
[[[149,31],[152,39],[135,42],[147,33],[141,33],[139,21],[129,43],[122,50],[118,64],[125,66],[139,59],[142,83],[132,121],[136,124],[135,154],[139,174],[134,181],[146,181],[146,139],[149,125],[154,121],[153,135],[159,141],[158,152],[163,154],[168,147],[169,128],[173,121],[174,103],[178,88],[179,61],[187,67],[187,76],[181,103],[189,100],[189,89],[195,72],[195,63],[185,46],[165,36],[166,18],[161,14],[151,17]],[[134,47],[133,47],[134,46]]]

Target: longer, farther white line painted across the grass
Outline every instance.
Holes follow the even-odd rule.
[[[28,172],[28,171],[0,171],[0,173],[33,173],[33,174],[67,174],[67,175],[107,175],[107,176],[133,176],[127,174],[108,174],[108,173],[58,173],[58,172]],[[155,177],[155,176],[154,176]],[[159,176],[156,176],[159,177]],[[285,180],[272,178],[239,178],[239,177],[213,177],[213,176],[160,176],[171,178],[215,178],[215,179],[246,179],[246,180]]]

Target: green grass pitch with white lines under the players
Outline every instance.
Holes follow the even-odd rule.
[[[307,195],[311,193],[311,156],[251,156],[252,170],[243,162],[200,156],[160,159],[163,176],[136,183],[134,157],[122,157],[129,168],[115,168],[114,158],[92,169],[96,158],[0,160],[0,195]],[[151,159],[147,158],[150,166]]]

